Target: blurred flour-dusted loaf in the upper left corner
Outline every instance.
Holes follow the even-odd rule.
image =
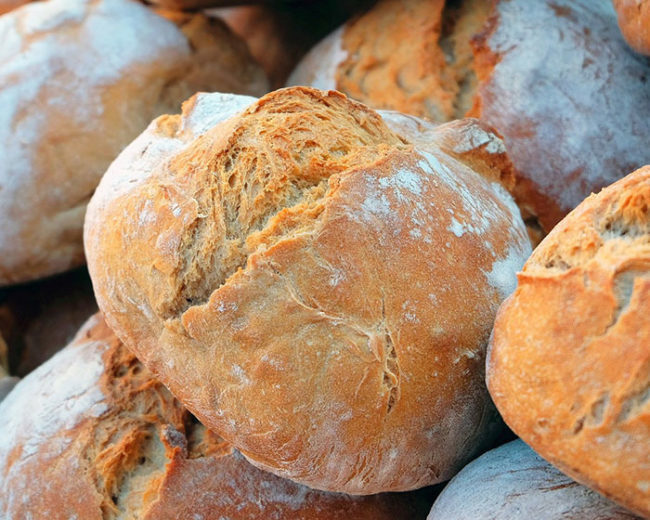
[[[48,0],[0,18],[0,285],[83,262],[86,203],[151,119],[197,90],[260,93],[245,45],[203,15]]]

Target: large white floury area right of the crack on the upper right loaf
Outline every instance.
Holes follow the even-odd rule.
[[[512,0],[498,19],[481,117],[542,193],[568,210],[650,162],[650,69],[626,48],[612,2]]]

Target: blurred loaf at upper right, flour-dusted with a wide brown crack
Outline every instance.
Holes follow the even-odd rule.
[[[649,80],[608,0],[381,0],[289,84],[435,121],[480,117],[503,134],[524,217],[548,232],[650,162]]]

